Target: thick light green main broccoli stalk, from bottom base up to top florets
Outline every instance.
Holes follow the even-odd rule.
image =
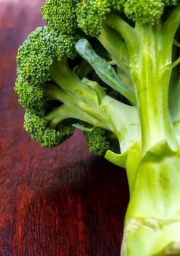
[[[172,61],[173,37],[180,23],[174,15],[179,8],[168,17],[175,26],[172,31],[168,23],[160,22],[148,28],[136,23],[134,28],[138,49],[130,56],[130,74],[141,144],[133,146],[126,159],[130,202],[122,256],[180,255],[180,151],[168,99],[176,65]]]

